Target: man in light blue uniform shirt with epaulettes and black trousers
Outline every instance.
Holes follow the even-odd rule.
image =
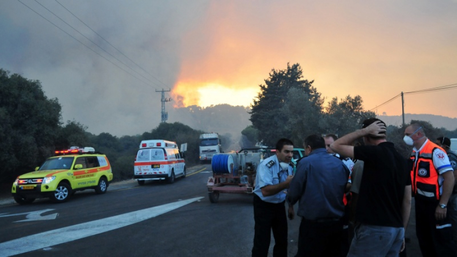
[[[271,231],[275,238],[273,256],[287,256],[287,214],[285,189],[292,180],[293,143],[282,138],[276,143],[276,154],[264,159],[257,168],[254,188],[254,245],[252,256],[266,257]],[[289,206],[289,208],[293,208]],[[293,209],[292,209],[293,210]],[[292,214],[293,218],[293,214]]]

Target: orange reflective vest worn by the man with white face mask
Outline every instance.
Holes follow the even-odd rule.
[[[416,152],[411,153],[410,159],[413,162],[411,170],[412,191],[416,196],[440,199],[439,174],[433,165],[433,151],[437,148],[443,150],[429,140],[420,150],[417,160]]]

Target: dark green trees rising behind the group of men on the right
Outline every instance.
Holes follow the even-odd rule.
[[[265,84],[259,85],[260,92],[251,105],[252,125],[241,132],[246,141],[251,145],[262,142],[274,146],[280,138],[289,138],[302,148],[304,139],[311,134],[341,137],[362,128],[365,119],[376,117],[374,112],[363,108],[360,95],[334,97],[324,106],[324,98],[313,84],[314,80],[303,78],[299,63],[287,63],[284,70],[273,69]],[[433,141],[441,136],[457,137],[457,129],[448,131],[427,121],[411,121],[415,122],[422,124]],[[411,148],[403,142],[403,127],[389,125],[386,135],[402,155],[409,156]]]

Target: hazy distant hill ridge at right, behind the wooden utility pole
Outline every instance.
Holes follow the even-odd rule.
[[[387,125],[402,125],[402,115],[399,116],[388,116],[388,115],[378,115],[378,119],[384,121]],[[430,122],[433,126],[441,128],[444,127],[448,131],[453,131],[457,129],[457,118],[449,118],[441,115],[433,114],[410,114],[405,113],[405,123],[408,124],[411,120],[423,120]]]

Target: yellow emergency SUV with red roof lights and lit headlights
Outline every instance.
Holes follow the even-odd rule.
[[[19,204],[27,204],[36,198],[46,198],[56,203],[68,201],[75,191],[95,189],[104,194],[113,180],[110,163],[105,154],[92,147],[71,147],[56,151],[57,156],[48,158],[34,172],[17,177],[11,192]]]

